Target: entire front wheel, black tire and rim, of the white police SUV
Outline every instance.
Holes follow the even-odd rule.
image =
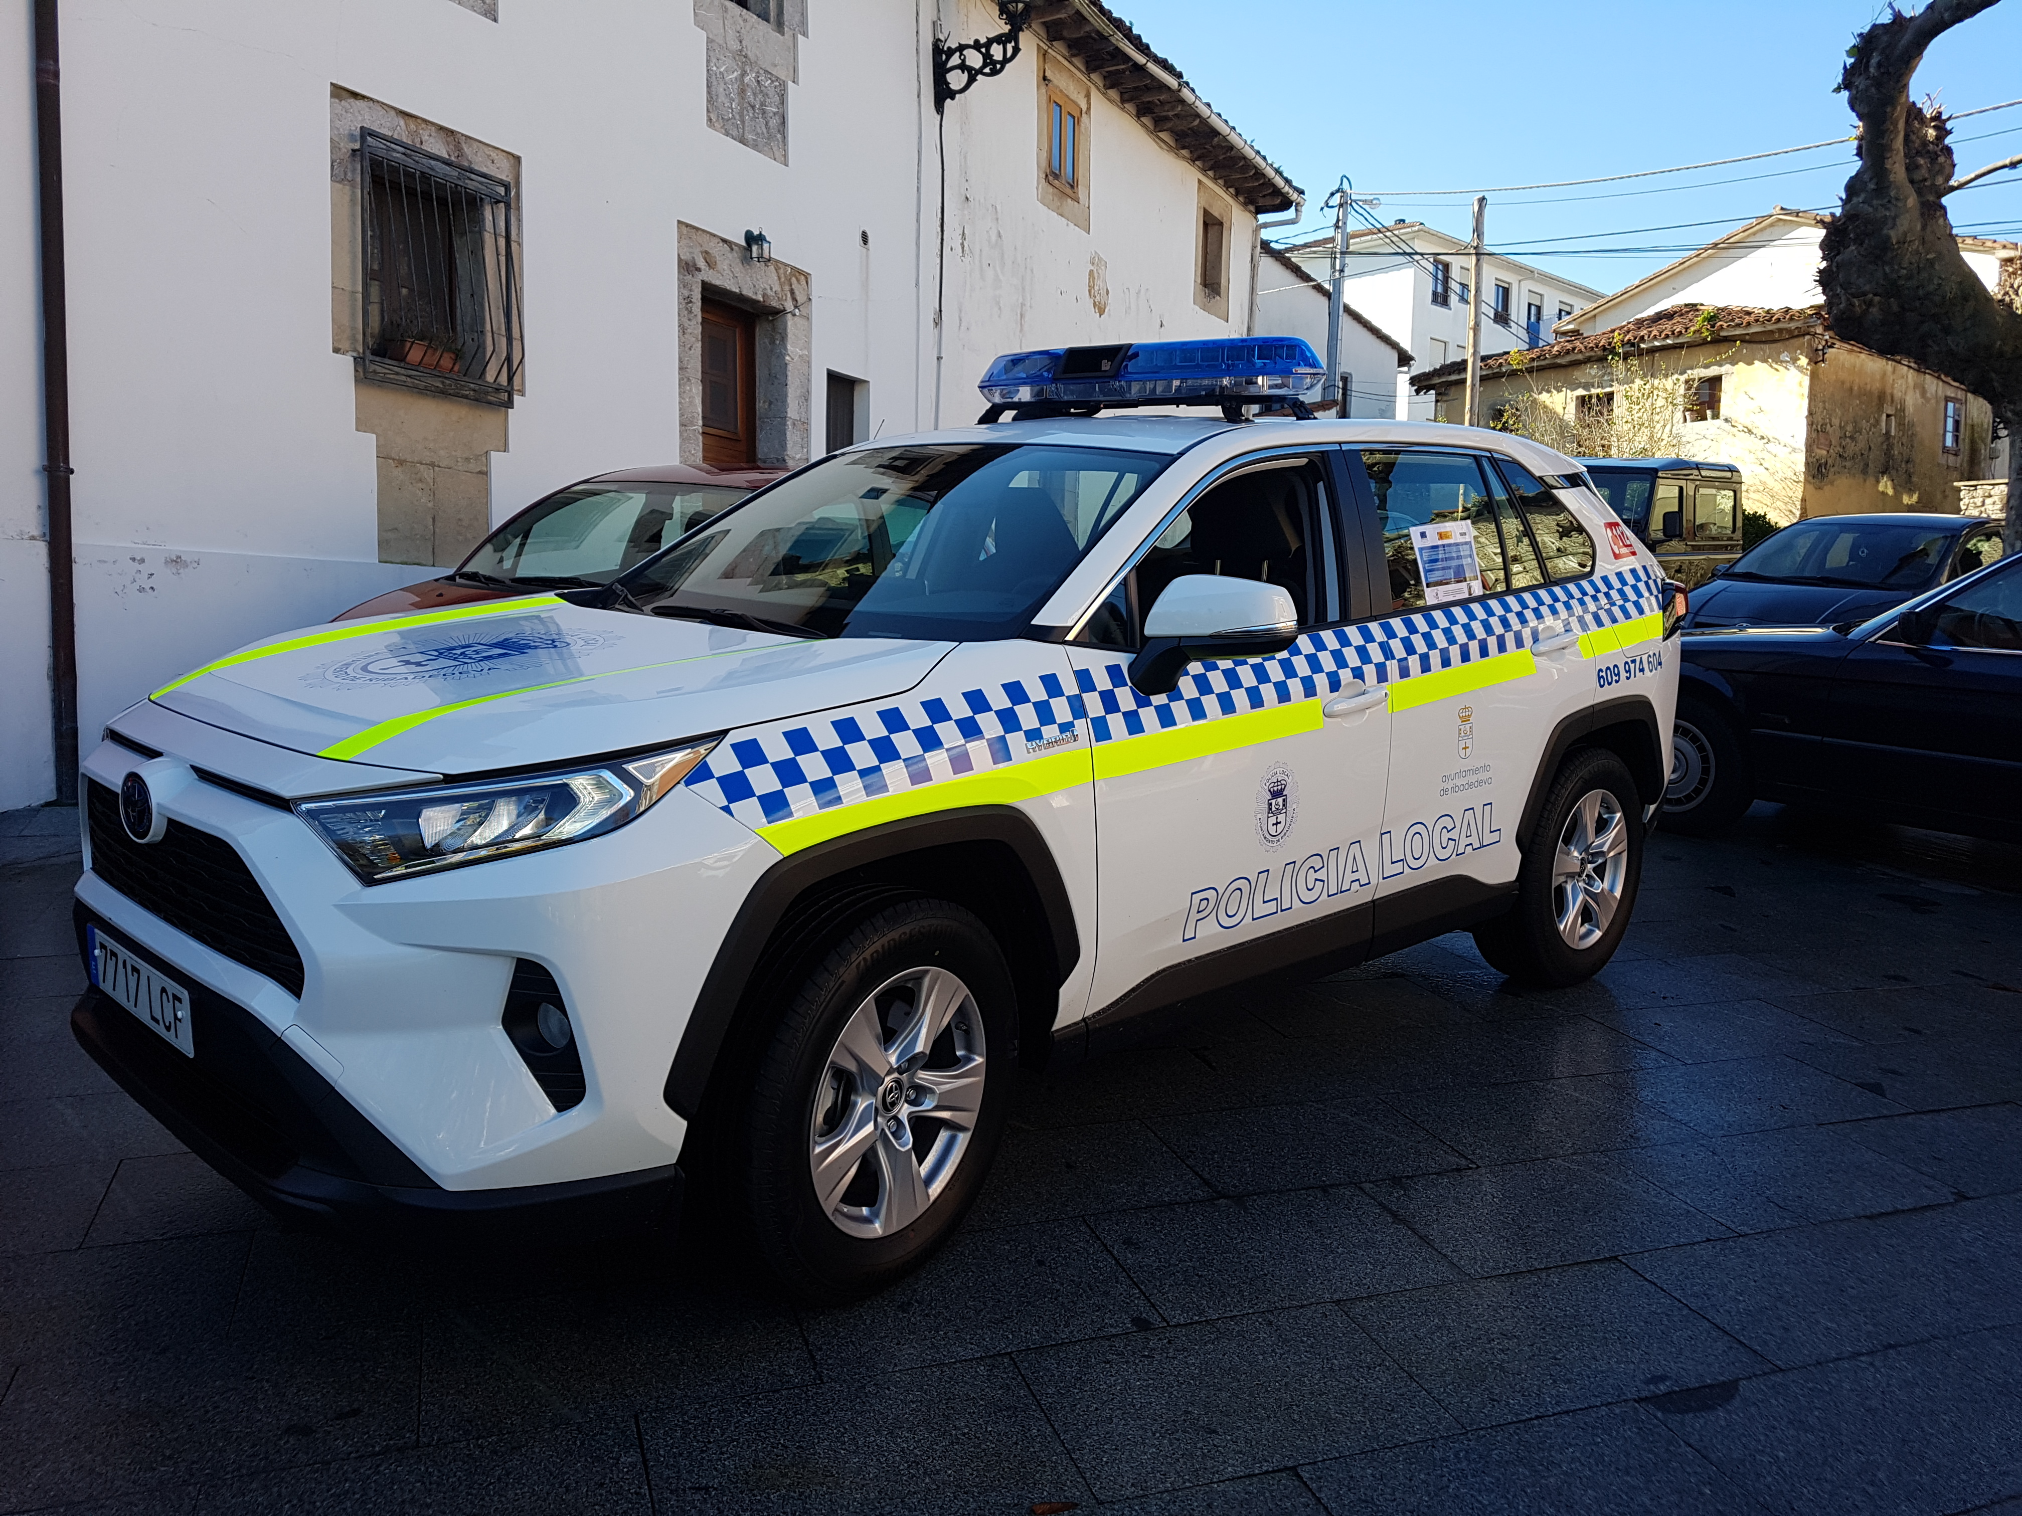
[[[918,1267],[983,1187],[1017,997],[995,938],[944,899],[874,904],[803,964],[756,1059],[736,1189],[774,1280],[843,1302]]]

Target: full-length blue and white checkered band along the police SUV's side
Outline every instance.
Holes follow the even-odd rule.
[[[1088,722],[1096,744],[1211,722],[1339,691],[1349,679],[1387,685],[1417,673],[1516,653],[1545,621],[1587,633],[1658,608],[1660,574],[1632,568],[1494,600],[1330,627],[1270,659],[1201,663],[1169,695],[1130,687],[1128,661],[1013,679],[954,697],[904,699],[799,726],[754,728],[720,746],[687,786],[746,827],[815,815],[880,794],[936,784],[1072,740]]]

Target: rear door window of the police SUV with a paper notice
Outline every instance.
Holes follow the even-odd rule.
[[[1478,578],[1482,592],[1504,588],[1496,507],[1474,455],[1369,447],[1361,459],[1383,532],[1391,610],[1464,600],[1468,578]],[[1472,530],[1452,544],[1428,544],[1426,532],[1413,536],[1413,528],[1462,522]],[[1468,538],[1472,550],[1464,546]],[[1426,582],[1426,564],[1432,564],[1432,584]],[[1468,568],[1474,568],[1472,576]]]

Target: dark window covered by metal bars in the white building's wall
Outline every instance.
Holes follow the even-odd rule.
[[[512,184],[358,133],[364,378],[510,406],[520,376]]]

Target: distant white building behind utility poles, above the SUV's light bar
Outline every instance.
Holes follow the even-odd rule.
[[[1314,279],[1326,279],[1335,239],[1328,232],[1286,253]],[[1482,354],[1551,342],[1553,323],[1599,299],[1597,289],[1498,253],[1482,257],[1480,291],[1468,289],[1468,273],[1466,241],[1417,220],[1397,220],[1349,232],[1341,289],[1349,305],[1411,350],[1419,370],[1466,356],[1470,293],[1482,303]],[[1432,396],[1415,394],[1407,374],[1397,374],[1395,390],[1397,416],[1432,420]]]

